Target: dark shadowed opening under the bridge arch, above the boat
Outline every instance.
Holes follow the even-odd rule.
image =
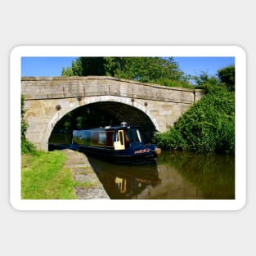
[[[52,130],[48,140],[48,150],[70,146],[72,131],[119,125],[122,122],[140,126],[147,143],[152,141],[155,125],[143,110],[115,101],[99,101],[67,113]]]

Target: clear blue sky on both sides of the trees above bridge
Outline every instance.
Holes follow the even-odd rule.
[[[61,76],[63,67],[71,66],[77,57],[22,57],[21,76]],[[185,74],[209,76],[227,65],[235,65],[235,57],[174,57]]]

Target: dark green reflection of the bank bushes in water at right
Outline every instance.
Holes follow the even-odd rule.
[[[196,186],[204,199],[235,199],[235,157],[164,152],[159,164],[175,168],[184,181]]]

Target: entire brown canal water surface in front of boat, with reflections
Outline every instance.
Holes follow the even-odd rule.
[[[88,158],[111,199],[234,199],[235,158],[164,151],[157,164]]]

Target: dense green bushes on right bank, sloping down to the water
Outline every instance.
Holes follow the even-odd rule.
[[[235,154],[235,93],[220,86],[207,88],[175,127],[155,135],[155,143],[171,150]]]

